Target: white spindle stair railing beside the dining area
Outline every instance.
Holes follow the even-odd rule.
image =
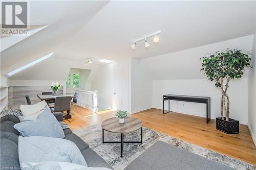
[[[98,91],[76,90],[78,92],[77,105],[93,112],[98,112]]]

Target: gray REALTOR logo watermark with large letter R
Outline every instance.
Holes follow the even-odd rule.
[[[1,6],[1,36],[29,35],[29,3],[20,1],[2,1]]]

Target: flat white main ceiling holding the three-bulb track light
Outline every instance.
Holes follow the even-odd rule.
[[[146,58],[254,33],[255,2],[111,1],[57,53],[63,58]],[[132,41],[162,31],[160,43]],[[75,52],[75,53],[74,53]]]

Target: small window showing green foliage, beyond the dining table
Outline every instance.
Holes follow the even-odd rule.
[[[70,72],[66,80],[67,88],[79,88],[81,82],[81,73],[80,72]]]

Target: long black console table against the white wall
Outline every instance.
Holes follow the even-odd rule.
[[[206,123],[208,124],[210,122],[210,97],[191,96],[191,95],[174,95],[174,94],[163,95],[163,114],[170,112],[170,100],[205,103],[206,104]],[[168,112],[166,113],[164,113],[164,101],[168,101]]]

